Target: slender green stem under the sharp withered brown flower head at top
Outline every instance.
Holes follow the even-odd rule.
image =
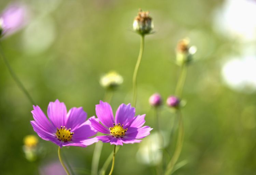
[[[133,72],[133,77],[132,77],[132,84],[133,84],[132,106],[133,107],[136,107],[136,102],[137,102],[137,73],[140,66],[143,50],[144,50],[144,35],[141,35],[140,52],[139,52],[139,56],[138,56],[137,63]]]

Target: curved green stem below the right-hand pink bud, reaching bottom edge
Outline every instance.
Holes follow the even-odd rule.
[[[178,133],[176,148],[170,162],[167,165],[165,175],[170,175],[172,173],[174,165],[180,157],[182,146],[183,146],[184,127],[183,127],[182,115],[180,110],[177,111],[177,115],[179,116],[179,133]]]

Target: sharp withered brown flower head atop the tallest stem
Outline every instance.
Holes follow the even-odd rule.
[[[153,20],[149,16],[149,12],[143,12],[139,9],[138,16],[136,16],[133,21],[133,30],[140,35],[146,35],[149,34],[153,28]]]

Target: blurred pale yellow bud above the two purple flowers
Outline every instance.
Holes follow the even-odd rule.
[[[107,89],[115,89],[123,83],[123,77],[115,71],[110,71],[100,78],[100,85]]]

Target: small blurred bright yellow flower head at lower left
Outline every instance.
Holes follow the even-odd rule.
[[[38,138],[34,135],[28,135],[24,138],[23,151],[25,157],[29,161],[34,161],[37,159],[38,154]]]

